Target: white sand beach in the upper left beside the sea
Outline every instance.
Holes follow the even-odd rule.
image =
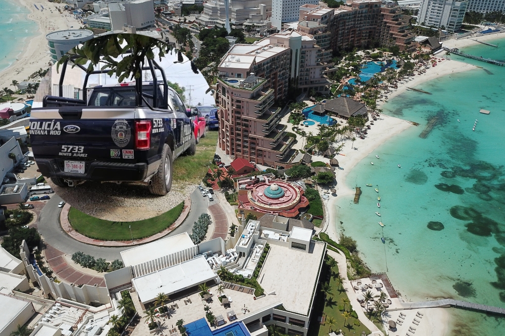
[[[55,4],[34,0],[19,0],[20,5],[25,6],[31,13],[28,18],[37,22],[40,34],[28,40],[23,46],[23,53],[9,68],[0,72],[0,87],[9,87],[13,80],[18,82],[28,79],[28,76],[39,70],[47,69],[51,61],[49,47],[45,35],[58,30],[79,29],[82,24],[74,19],[74,16],[63,10],[66,4]],[[35,6],[43,11],[35,9]],[[60,14],[55,7],[60,7]],[[53,11],[53,13],[51,13]],[[62,16],[63,15],[63,16]]]

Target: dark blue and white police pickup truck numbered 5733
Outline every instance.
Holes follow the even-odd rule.
[[[163,80],[92,88],[89,75],[107,71],[87,72],[83,99],[73,99],[63,97],[67,63],[59,96],[45,96],[43,107],[31,110],[30,142],[40,173],[61,187],[137,182],[153,194],[167,194],[173,160],[194,155],[196,143],[190,115],[163,70],[149,61],[145,70],[161,71]]]

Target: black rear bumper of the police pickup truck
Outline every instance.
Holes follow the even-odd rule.
[[[79,181],[143,181],[153,174],[160,162],[147,163],[121,163],[86,161],[84,174],[64,172],[61,159],[37,159],[36,163],[40,173],[46,177],[59,177]]]

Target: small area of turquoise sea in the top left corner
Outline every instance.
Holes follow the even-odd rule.
[[[29,13],[14,0],[0,0],[0,71],[15,62],[27,39],[38,33],[37,24],[27,18]]]

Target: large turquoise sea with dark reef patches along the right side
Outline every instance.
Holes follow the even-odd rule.
[[[498,42],[499,48],[463,51],[503,60],[505,40],[491,43]],[[348,186],[362,186],[363,194],[359,205],[352,197],[338,201],[338,229],[358,241],[372,271],[387,272],[408,300],[454,298],[505,308],[505,68],[450,57],[484,69],[435,79],[417,87],[432,95],[410,91],[383,107],[420,125],[349,173]],[[433,117],[435,127],[420,138]],[[377,193],[367,183],[378,185],[380,218]],[[505,318],[457,309],[450,314],[451,335],[505,334]]]

